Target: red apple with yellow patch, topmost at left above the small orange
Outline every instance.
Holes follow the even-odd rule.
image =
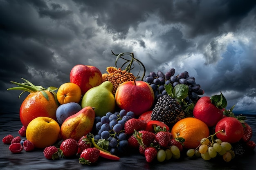
[[[84,95],[90,88],[102,83],[102,74],[97,67],[78,64],[70,71],[70,82],[77,84]]]

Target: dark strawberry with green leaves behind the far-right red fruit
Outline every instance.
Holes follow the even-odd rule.
[[[235,107],[235,105],[232,106],[230,108],[230,110],[226,110],[224,108],[223,115],[225,115],[227,117],[234,117],[234,118],[238,119],[241,122],[241,124],[243,125],[243,130],[244,130],[242,141],[248,142],[252,138],[252,128],[245,122],[245,120],[246,120],[245,116],[243,116],[243,115],[236,116],[233,113],[234,107]]]

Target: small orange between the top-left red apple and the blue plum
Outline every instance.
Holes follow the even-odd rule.
[[[62,84],[57,91],[57,99],[60,104],[66,104],[70,102],[79,103],[81,96],[81,88],[77,84],[71,82]]]

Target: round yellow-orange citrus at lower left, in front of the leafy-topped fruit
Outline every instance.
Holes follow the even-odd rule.
[[[26,130],[27,140],[36,148],[52,146],[58,140],[59,134],[58,122],[49,117],[36,117],[29,122]]]

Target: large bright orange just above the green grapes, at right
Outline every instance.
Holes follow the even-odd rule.
[[[209,136],[209,128],[200,119],[194,117],[186,117],[177,121],[171,130],[173,137],[183,137],[184,148],[194,149],[198,147],[200,141],[204,137]]]

